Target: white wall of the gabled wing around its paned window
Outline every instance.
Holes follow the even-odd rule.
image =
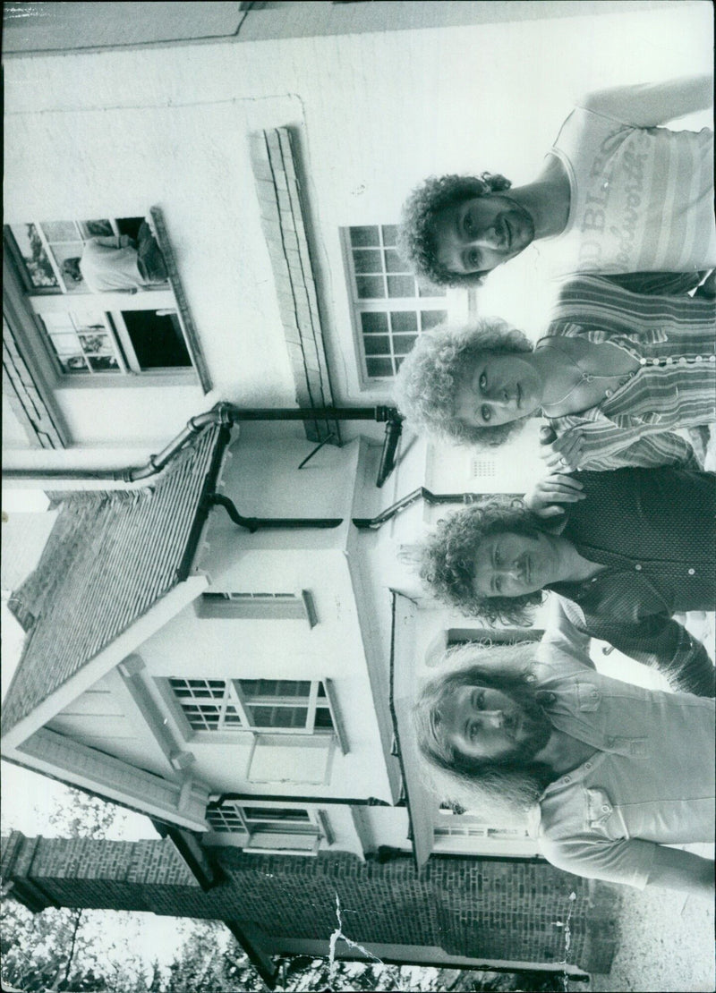
[[[264,554],[269,560],[269,576],[259,580],[259,590],[271,592],[270,560],[277,553]],[[257,557],[258,553],[254,565]],[[293,563],[290,554],[286,558],[290,577]],[[240,561],[233,572],[232,588],[250,592],[254,588],[243,580]],[[257,572],[255,569],[253,575]],[[303,552],[302,573],[303,588],[311,591],[316,604],[319,623],[314,629],[306,621],[199,619],[190,607],[143,645],[142,658],[155,679],[186,676],[333,681],[350,752],[346,756],[335,754],[330,782],[309,788],[301,778],[300,768],[287,767],[285,775],[294,781],[273,787],[251,783],[247,779],[251,735],[237,734],[235,740],[228,742],[220,736],[220,744],[190,737],[185,747],[197,758],[196,775],[211,782],[216,791],[295,795],[313,792],[319,796],[374,795],[389,799],[385,758],[345,562],[340,553],[313,556]],[[311,758],[307,756],[306,761]]]

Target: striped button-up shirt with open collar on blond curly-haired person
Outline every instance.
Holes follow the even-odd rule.
[[[644,296],[599,276],[573,276],[536,347],[560,337],[608,342],[640,362],[598,405],[549,418],[558,436],[580,431],[581,469],[698,467],[673,431],[716,420],[716,302]]]

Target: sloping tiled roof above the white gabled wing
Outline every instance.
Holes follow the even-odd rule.
[[[3,706],[4,731],[186,578],[220,441],[220,428],[207,428],[153,486],[63,501],[37,569],[10,598],[29,634]]]

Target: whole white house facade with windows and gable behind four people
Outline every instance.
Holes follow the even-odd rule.
[[[28,635],[3,755],[213,846],[534,856],[521,825],[441,810],[420,783],[410,691],[435,644],[485,635],[399,561],[443,504],[362,525],[419,488],[457,503],[538,473],[536,422],[490,454],[404,432],[376,486],[401,357],[445,318],[536,334],[538,259],[445,292],[409,274],[396,223],[426,175],[526,178],[590,85],[708,68],[710,11],[45,6],[65,27],[6,25],[3,530]],[[502,68],[534,21],[558,83]],[[92,238],[142,222],[167,280],[68,281]],[[31,493],[57,512],[42,553],[11,541],[42,529]]]

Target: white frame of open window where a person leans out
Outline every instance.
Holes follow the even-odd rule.
[[[112,227],[113,233],[115,235],[119,234],[116,218],[103,217],[101,219],[108,220]],[[52,222],[54,221],[45,221],[45,223]],[[72,222],[77,225],[78,228],[80,221],[72,218]],[[48,241],[45,232],[42,229],[42,222],[35,219],[18,222],[18,224],[25,223],[33,224],[35,226],[38,236],[43,243],[43,247],[45,248],[45,253],[48,257],[55,277],[60,284],[59,288],[48,287],[43,289],[41,287],[32,287],[31,285],[28,285],[27,278],[24,274],[20,280],[23,285],[23,295],[28,309],[32,315],[35,316],[35,322],[32,327],[29,327],[30,322],[28,321],[24,324],[23,330],[28,338],[37,338],[38,344],[41,346],[41,354],[46,357],[46,371],[51,372],[51,378],[55,388],[96,388],[99,385],[126,387],[130,383],[135,382],[141,383],[142,385],[150,385],[153,382],[156,383],[157,379],[166,384],[169,384],[170,381],[171,383],[177,384],[195,383],[198,381],[198,373],[193,358],[193,350],[190,342],[187,340],[184,318],[169,282],[164,284],[150,284],[146,288],[138,290],[136,293],[121,291],[114,293],[91,293],[86,289],[69,289],[65,283],[64,276],[54,253],[50,249],[51,242]],[[18,224],[10,223],[5,226],[10,228],[12,233],[12,228],[14,226],[18,226]],[[82,243],[85,243],[86,240],[87,238],[84,237],[81,232],[76,239],[77,242],[81,241]],[[60,244],[62,242],[52,243]],[[19,247],[17,251],[19,254],[15,260],[15,264],[20,270],[22,270],[22,267],[24,266],[24,256],[22,255],[22,250],[20,250]],[[16,250],[14,246],[13,251],[9,254],[15,257]],[[179,327],[182,331],[185,348],[187,349],[187,353],[189,355],[189,365],[149,369],[141,368],[121,312],[143,310],[157,311],[160,315],[164,312],[165,316],[169,316],[170,314],[176,315]],[[42,321],[44,315],[51,315],[53,313],[73,314],[76,315],[80,321],[82,317],[85,316],[88,320],[91,320],[94,325],[97,325],[97,319],[99,319],[99,323],[103,325],[105,333],[109,336],[113,344],[114,357],[119,365],[119,368],[111,371],[91,370],[87,368],[86,370],[79,372],[69,372],[64,369],[58,355],[56,355],[55,348],[52,345],[52,335]],[[111,324],[108,318],[111,318]],[[34,349],[33,351],[35,354],[38,352],[37,349]]]

